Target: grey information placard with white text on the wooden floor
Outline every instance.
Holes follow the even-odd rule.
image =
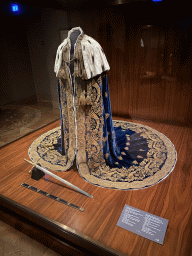
[[[168,220],[125,205],[117,226],[163,244]]]

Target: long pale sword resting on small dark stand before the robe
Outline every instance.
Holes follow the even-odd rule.
[[[85,195],[85,196],[88,196],[88,197],[90,197],[90,198],[93,198],[93,196],[90,195],[89,193],[87,193],[87,192],[85,192],[84,190],[82,190],[82,189],[76,187],[75,185],[71,184],[70,182],[68,182],[68,181],[66,181],[66,180],[64,180],[64,179],[62,179],[62,178],[60,178],[59,176],[53,174],[52,172],[50,172],[50,171],[48,171],[47,169],[45,169],[45,168],[39,166],[38,164],[35,164],[35,163],[33,163],[33,162],[31,162],[31,161],[25,159],[25,158],[24,158],[24,160],[25,160],[26,162],[32,164],[34,167],[36,167],[36,168],[39,169],[40,171],[49,174],[49,175],[52,176],[53,178],[55,178],[55,179],[61,181],[62,183],[66,184],[67,186],[73,188],[74,190],[78,191],[79,193],[81,193],[81,194],[83,194],[83,195]]]

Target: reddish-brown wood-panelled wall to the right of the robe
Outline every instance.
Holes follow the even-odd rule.
[[[190,124],[191,15],[159,7],[70,11],[69,24],[81,26],[105,51],[114,115]]]

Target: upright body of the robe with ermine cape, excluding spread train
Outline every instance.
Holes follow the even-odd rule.
[[[69,31],[55,60],[61,112],[58,151],[65,156],[62,170],[76,157],[80,173],[98,173],[110,167],[129,167],[134,160],[126,148],[126,131],[113,127],[106,71],[110,69],[102,47],[81,28]],[[116,135],[118,134],[118,145]],[[126,155],[126,159],[123,159]]]

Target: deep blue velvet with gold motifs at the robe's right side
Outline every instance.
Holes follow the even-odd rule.
[[[142,161],[141,159],[146,157],[149,150],[147,141],[133,130],[125,130],[120,126],[113,126],[107,75],[102,77],[101,87],[104,118],[103,138],[106,138],[106,142],[103,146],[103,157],[106,159],[106,163],[110,167],[129,168],[131,165],[136,163],[135,161],[139,164]],[[127,142],[127,138],[129,138],[129,142]],[[127,150],[129,151],[126,152]],[[138,152],[142,155],[141,158],[137,157]]]

